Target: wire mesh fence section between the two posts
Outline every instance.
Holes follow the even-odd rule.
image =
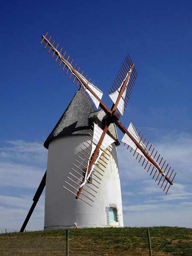
[[[101,232],[102,231],[102,232]],[[134,236],[123,229],[70,230],[69,255],[74,256],[146,256],[146,232]]]

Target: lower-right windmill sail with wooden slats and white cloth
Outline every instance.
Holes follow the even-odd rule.
[[[160,154],[158,155],[157,151],[156,152],[154,151],[154,148],[152,150],[152,148],[151,148],[152,145],[150,145],[149,148],[147,148],[149,142],[145,145],[145,140],[146,139],[144,141],[142,141],[143,136],[140,137],[140,135],[137,133],[137,129],[135,129],[132,122],[128,126],[127,131],[129,132],[129,134],[131,134],[131,136],[134,138],[134,140],[136,140],[137,143],[143,148],[143,151],[145,152],[145,154],[142,152],[142,150],[140,148],[138,148],[138,145],[136,143],[134,143],[134,141],[128,136],[128,134],[126,134],[126,133],[124,134],[121,142],[124,143],[124,145],[125,144],[128,145],[128,148],[131,148],[130,152],[132,150],[134,151],[133,156],[136,154],[136,159],[138,158],[139,163],[142,160],[142,158],[144,158],[144,160],[142,161],[142,166],[144,165],[144,163],[146,163],[144,169],[146,169],[146,167],[148,166],[148,171],[147,172],[150,171],[150,176],[154,172],[153,179],[154,179],[155,175],[158,174],[156,179],[155,179],[155,182],[158,180],[158,185],[160,184],[160,181],[164,177],[163,183],[161,184],[161,188],[162,188],[165,180],[167,180],[166,185],[163,189],[163,191],[165,191],[165,189],[167,187],[167,184],[168,183],[170,184],[167,191],[166,191],[166,194],[167,194],[168,191],[169,191],[169,188],[170,188],[170,186],[171,186],[171,184],[172,184],[172,182],[175,178],[176,173],[173,176],[172,180],[170,180],[170,178],[173,174],[173,171],[172,171],[172,173],[169,177],[167,175],[169,174],[169,171],[170,171],[171,167],[168,169],[169,164],[165,165],[166,161],[162,162],[163,157],[160,158]],[[146,157],[146,154],[148,155],[148,157]],[[154,156],[153,156],[153,154],[154,154]],[[140,157],[139,157],[139,155],[140,155]],[[158,157],[157,157],[157,155],[158,155]],[[155,160],[155,157],[157,157],[156,160]],[[150,161],[149,161],[149,158],[151,159]],[[158,161],[159,161],[159,163],[158,163]],[[162,166],[161,166],[161,164],[162,164]],[[163,170],[163,167],[165,167],[164,170]],[[150,170],[150,168],[151,168],[151,170]],[[168,169],[168,172],[166,173],[167,169]]]

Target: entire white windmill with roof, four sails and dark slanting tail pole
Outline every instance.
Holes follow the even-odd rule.
[[[54,47],[55,40],[51,43],[51,36],[47,38],[47,34],[42,36],[44,49],[49,46],[48,53],[52,51],[52,57],[56,55],[55,62],[59,59],[62,70],[66,68],[69,78],[73,76],[73,82],[77,80],[84,91],[76,93],[44,143],[48,148],[47,171],[20,232],[24,231],[45,185],[45,229],[69,228],[76,224],[79,227],[122,227],[116,126],[124,134],[122,143],[128,145],[155,182],[158,185],[161,182],[160,187],[166,194],[176,175],[132,123],[126,129],[119,120],[118,112],[124,114],[138,75],[135,65],[128,55],[112,85],[110,109],[101,100],[102,91],[83,76],[83,71],[79,73],[80,67],[72,66],[70,56],[64,58],[66,52],[61,55],[62,48],[58,51],[58,44]],[[100,111],[94,110],[87,96]]]

